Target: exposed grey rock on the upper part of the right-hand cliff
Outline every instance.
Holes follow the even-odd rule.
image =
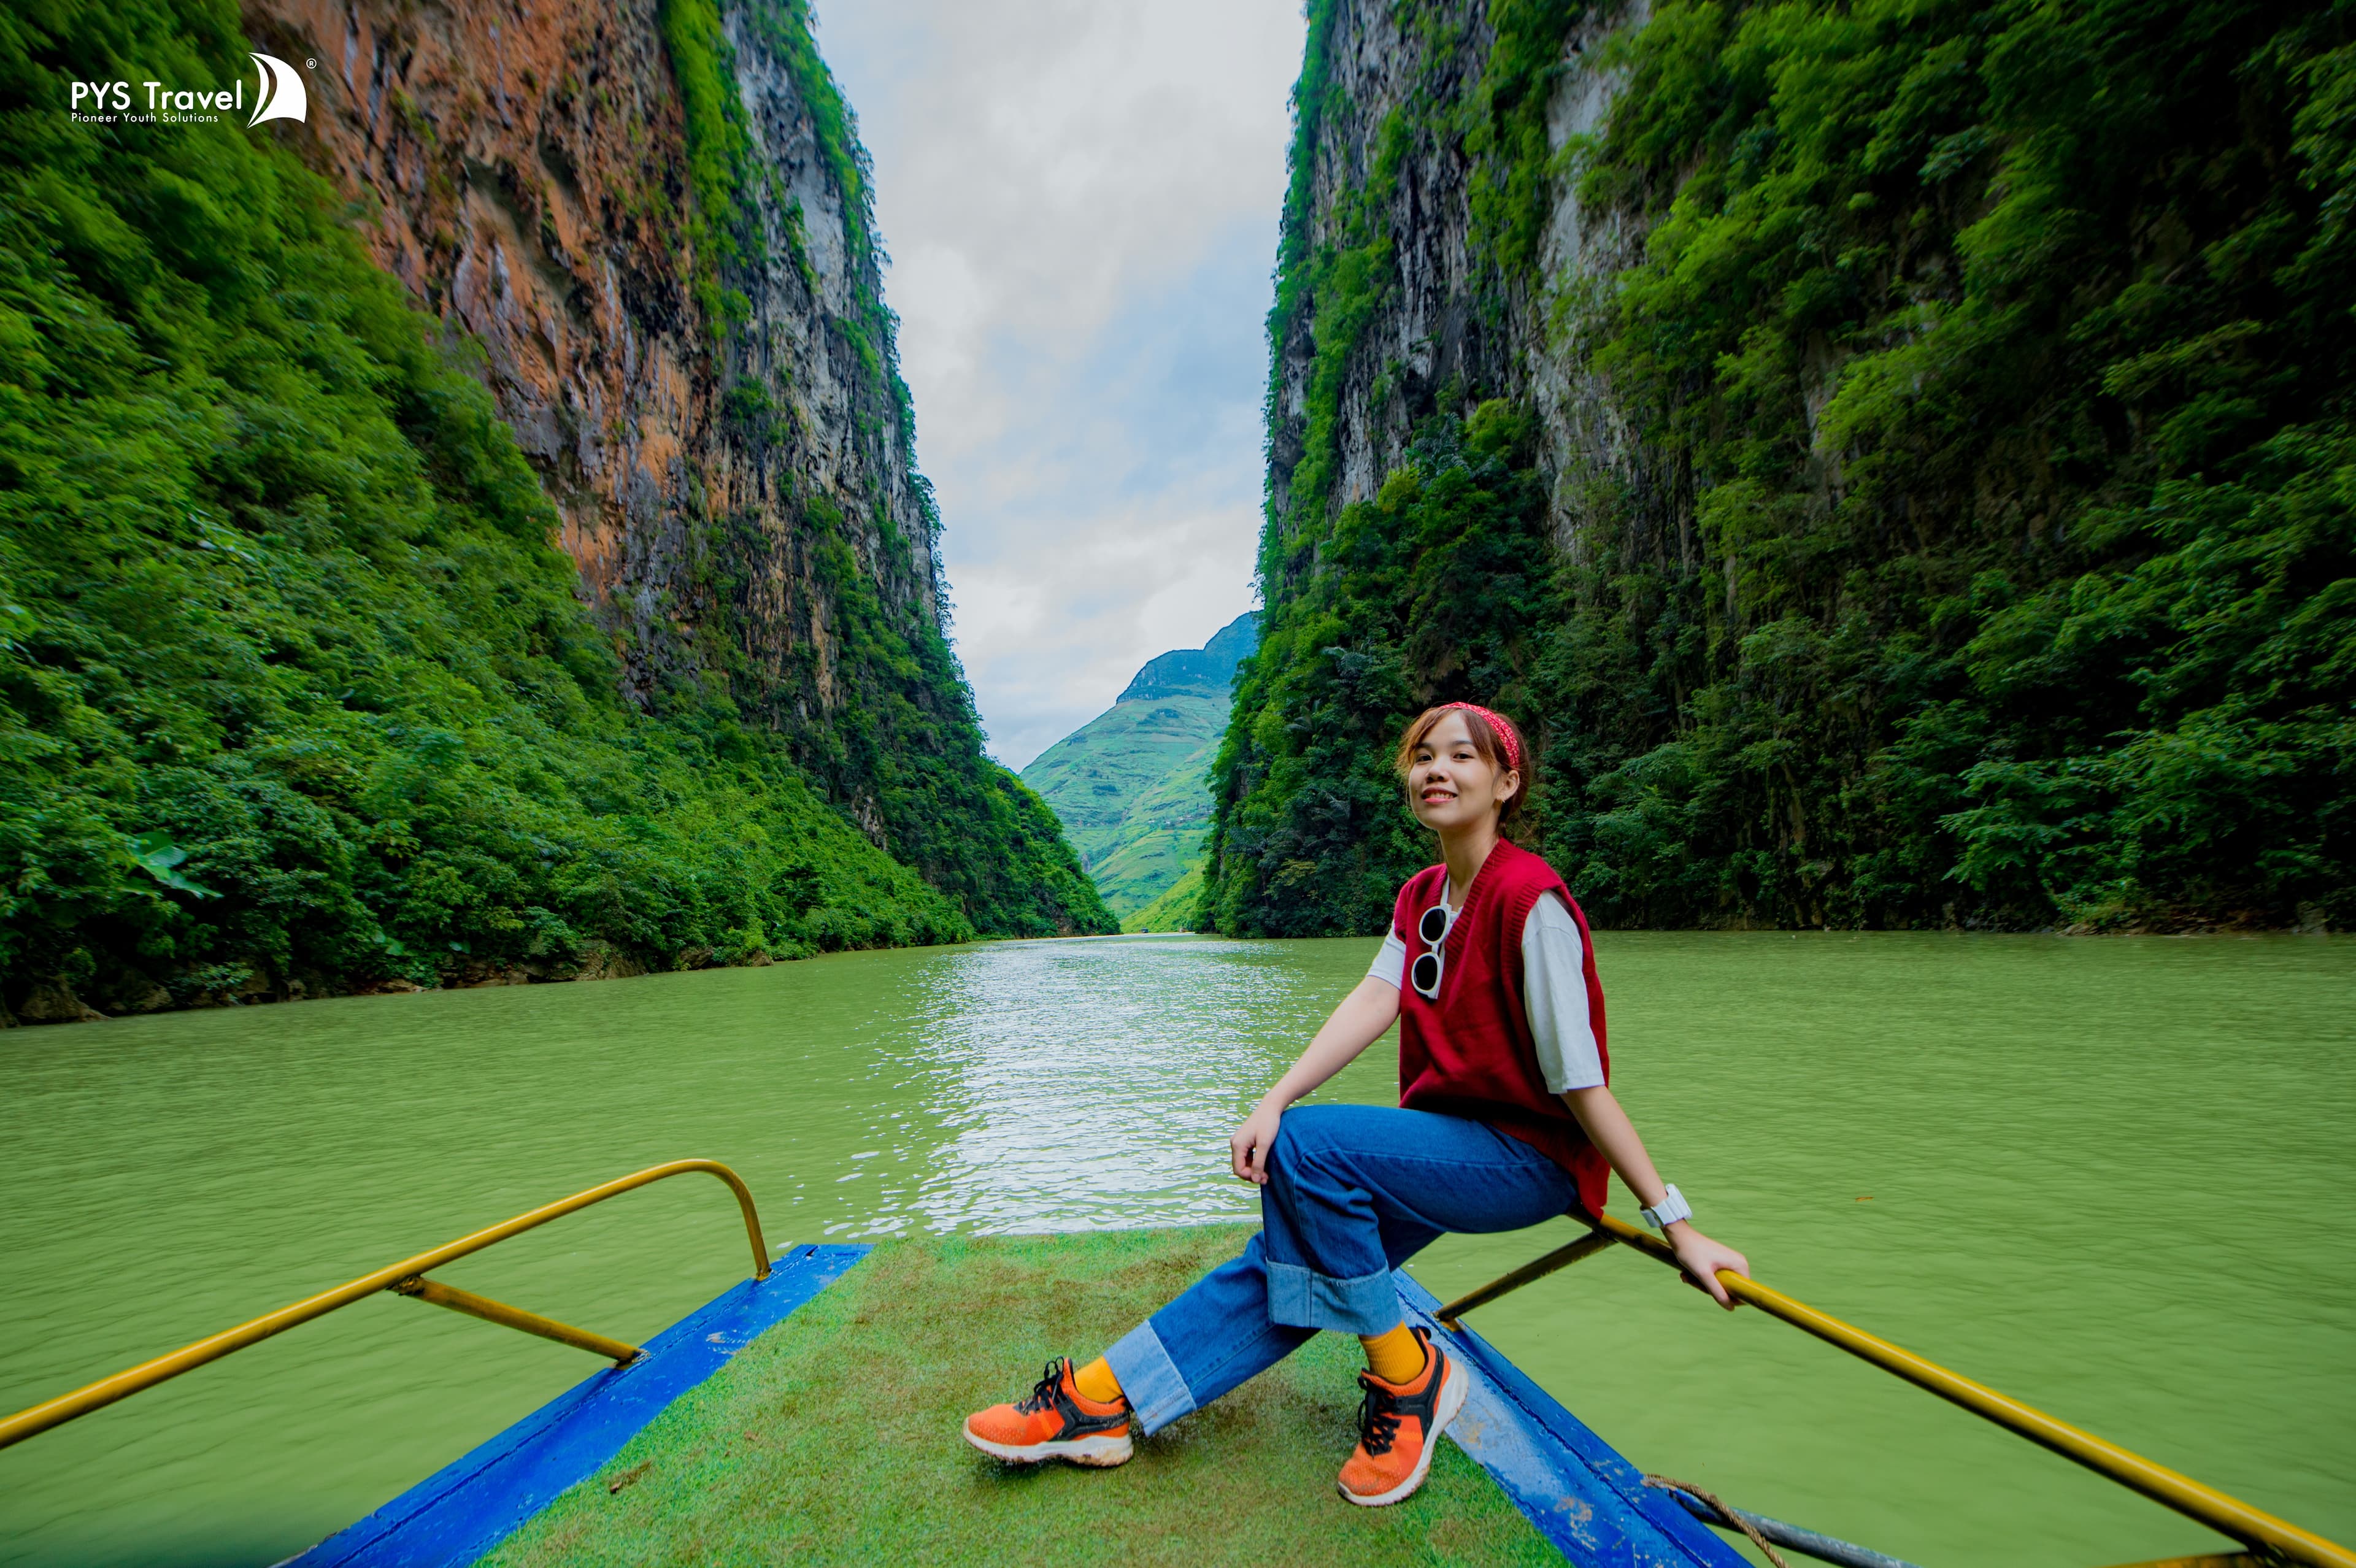
[[[1640,235],[1614,212],[1583,212],[1571,181],[1553,179],[1536,268],[1550,287],[1501,273],[1496,235],[1484,233],[1475,210],[1477,162],[1465,151],[1465,122],[1487,113],[1484,78],[1498,35],[1491,7],[1435,9],[1444,14],[1402,26],[1397,7],[1381,0],[1336,0],[1310,42],[1303,92],[1315,101],[1301,108],[1296,146],[1298,245],[1303,259],[1352,245],[1381,254],[1366,257],[1369,280],[1326,278],[1282,320],[1270,388],[1270,516],[1374,499],[1421,417],[1510,398],[1541,412],[1553,516],[1560,539],[1574,544],[1590,506],[1586,476],[1630,473],[1637,461],[1604,388],[1583,370],[1581,287],[1626,266]],[[1647,14],[1649,0],[1621,0],[1553,33],[1555,68],[1538,85],[1548,155],[1600,129],[1619,87],[1597,64],[1602,45]],[[1341,356],[1331,348],[1338,337],[1350,344]],[[1329,428],[1315,428],[1322,370]],[[1317,494],[1298,494],[1296,471],[1312,443],[1329,443],[1331,469],[1315,464]]]

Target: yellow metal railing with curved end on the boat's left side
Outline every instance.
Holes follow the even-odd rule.
[[[563,1220],[565,1215],[589,1208],[591,1203],[603,1203],[648,1182],[660,1182],[674,1175],[688,1175],[693,1170],[707,1170],[721,1182],[728,1182],[728,1191],[735,1194],[737,1208],[744,1210],[744,1236],[752,1241],[752,1274],[754,1278],[768,1278],[768,1243],[761,1241],[761,1215],[752,1205],[752,1191],[737,1172],[728,1170],[719,1161],[671,1161],[667,1165],[650,1165],[634,1175],[605,1182],[603,1187],[591,1187],[589,1191],[577,1191],[570,1198],[549,1203],[547,1208],[535,1208],[528,1215],[516,1215],[514,1220],[502,1220],[499,1224],[476,1231],[474,1236],[459,1236],[457,1241],[443,1243],[431,1253],[419,1253],[417,1257],[403,1257],[396,1264],[386,1264],[375,1274],[363,1274],[356,1281],[346,1281],[335,1290],[320,1290],[313,1297],[294,1302],[292,1307],[280,1307],[252,1323],[238,1323],[210,1340],[198,1340],[186,1344],[170,1356],[155,1356],[153,1361],[141,1361],[134,1368],[115,1373],[113,1377],[101,1377],[73,1394],[59,1394],[57,1398],[33,1406],[31,1410],[19,1410],[16,1415],[0,1420],[0,1448],[9,1443],[21,1443],[28,1436],[47,1431],[49,1427],[64,1427],[78,1415],[90,1415],[101,1410],[118,1398],[130,1398],[141,1389],[153,1389],[158,1382],[170,1382],[181,1373],[191,1373],[207,1361],[219,1361],[221,1356],[236,1354],[247,1344],[259,1344],[271,1335],[283,1335],[297,1323],[309,1323],[311,1318],[323,1318],[337,1307],[351,1307],[353,1302],[370,1297],[379,1290],[391,1290],[393,1295],[405,1295],[410,1300],[429,1302],[434,1307],[448,1307],[450,1311],[464,1311],[466,1316],[483,1318],[485,1323],[499,1323],[504,1328],[518,1328],[528,1335],[540,1335],[542,1340],[556,1340],[558,1344],[573,1344],[584,1351],[610,1356],[617,1363],[629,1363],[638,1358],[636,1344],[622,1344],[620,1340],[608,1340],[605,1335],[594,1335],[587,1328],[573,1328],[570,1323],[558,1323],[556,1318],[544,1318],[537,1311],[523,1311],[521,1307],[509,1307],[507,1302],[495,1302],[485,1295],[474,1295],[469,1290],[457,1290],[441,1281],[426,1278],[429,1271],[443,1267],[445,1262],[457,1262],[469,1253],[481,1253],[488,1245],[497,1245],[509,1236],[521,1236],[523,1231],[537,1229],[549,1220]]]

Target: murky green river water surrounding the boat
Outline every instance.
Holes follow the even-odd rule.
[[[1011,942],[5,1034],[0,1410],[688,1154],[747,1177],[773,1245],[1249,1217],[1227,1130],[1371,951]],[[1760,1278],[2356,1540],[2356,944],[1604,932],[1597,958],[1621,1099]],[[1388,1102],[1392,1074],[1383,1043],[1326,1092]],[[1447,1297],[1569,1234],[1414,1271]],[[742,1245],[683,1177],[443,1278],[643,1337]],[[1472,1323],[1644,1469],[1927,1568],[2219,1544],[1633,1255]],[[0,1453],[0,1563],[269,1563],[594,1370],[375,1297]],[[975,1403],[1032,1375],[985,1349]]]

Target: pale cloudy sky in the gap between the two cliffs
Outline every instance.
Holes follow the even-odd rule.
[[[957,652],[1023,768],[1253,607],[1298,0],[818,0]]]

